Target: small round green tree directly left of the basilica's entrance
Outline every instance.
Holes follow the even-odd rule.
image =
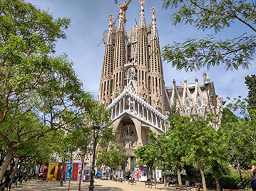
[[[111,143],[106,148],[100,148],[97,155],[97,165],[107,165],[111,168],[111,178],[113,176],[113,170],[118,168],[119,165],[123,165],[127,161],[126,149],[123,146]]]

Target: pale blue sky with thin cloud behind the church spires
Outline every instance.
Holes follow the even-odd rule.
[[[101,80],[101,67],[103,63],[104,45],[98,47],[102,39],[102,33],[108,28],[108,14],[118,15],[118,6],[113,0],[27,0],[38,8],[48,10],[54,18],[71,18],[71,26],[66,31],[66,40],[58,40],[56,44],[56,54],[66,53],[74,63],[74,70],[82,80],[84,89],[91,92],[95,99],[98,97],[98,88]],[[139,0],[132,0],[126,11],[126,30],[129,33],[130,27],[135,25],[135,19],[140,18]],[[161,0],[145,0],[146,23],[151,22],[150,9],[155,7],[156,23],[160,38],[160,47],[173,42],[182,43],[188,38],[202,38],[206,34],[214,34],[213,30],[198,31],[193,26],[179,23],[173,26],[171,22],[172,10],[162,9]],[[217,33],[217,38],[232,38],[242,35],[242,33],[252,33],[246,26],[240,23],[232,24],[230,28],[221,33]],[[200,70],[198,72],[177,71],[170,64],[163,62],[165,86],[172,86],[173,79],[176,84],[183,82],[184,78],[188,83],[195,82],[198,77],[199,84],[203,83],[203,72],[207,72],[210,80],[215,83],[216,93],[220,97],[247,97],[247,87],[245,86],[245,76],[256,73],[256,62],[252,61],[249,70],[227,71],[224,67],[211,67],[210,70]]]

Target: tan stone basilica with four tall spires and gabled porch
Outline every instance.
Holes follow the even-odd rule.
[[[168,129],[168,116],[173,111],[182,115],[207,112],[220,114],[222,99],[215,93],[210,78],[203,73],[203,84],[195,82],[166,87],[163,62],[160,56],[155,8],[152,23],[146,24],[144,0],[140,0],[139,24],[126,32],[123,4],[117,26],[109,15],[108,31],[98,101],[111,110],[113,126],[118,131],[118,143],[128,155],[126,169],[134,167],[134,151],[148,143],[148,131],[164,133]],[[217,126],[215,127],[217,129]]]

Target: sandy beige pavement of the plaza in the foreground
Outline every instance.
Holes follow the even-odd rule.
[[[71,181],[71,187],[70,190],[78,190],[78,181]],[[89,190],[88,185],[90,182],[81,182],[81,190]],[[137,182],[136,185],[128,185],[128,181],[125,181],[123,183],[121,182],[114,182],[111,180],[95,180],[94,182],[94,190],[95,191],[103,191],[103,190],[109,190],[109,191],[136,191],[136,190],[164,190],[163,184],[157,184],[156,189],[153,186],[148,188],[148,186],[145,187],[144,182]],[[28,182],[23,183],[22,185],[18,183],[18,187],[14,187],[11,190],[13,191],[31,191],[31,190],[68,190],[68,182],[63,182],[63,187],[60,187],[59,182],[46,182],[42,180],[29,180]],[[170,187],[168,187],[168,190],[171,190]]]

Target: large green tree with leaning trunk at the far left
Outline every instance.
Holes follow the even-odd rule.
[[[67,56],[53,55],[69,19],[23,0],[1,1],[0,10],[0,138],[9,148],[2,180],[15,148],[86,114],[92,97]]]

